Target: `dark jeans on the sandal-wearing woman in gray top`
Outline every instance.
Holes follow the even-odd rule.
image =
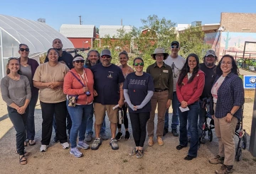
[[[26,118],[28,117],[28,108],[23,115],[19,114],[16,109],[7,106],[9,118],[14,124],[14,129],[16,130],[16,149],[19,155],[24,154],[24,141],[26,140]]]

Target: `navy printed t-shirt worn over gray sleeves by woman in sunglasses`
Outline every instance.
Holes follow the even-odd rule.
[[[124,81],[124,89],[128,89],[128,95],[132,105],[140,105],[144,98],[146,98],[147,91],[154,91],[154,82],[150,74],[143,73],[142,76],[137,76],[135,72],[127,75]],[[132,110],[129,108],[129,112],[141,113],[151,112],[151,102],[139,110]]]

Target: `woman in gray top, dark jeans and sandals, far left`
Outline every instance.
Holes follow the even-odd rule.
[[[31,100],[31,87],[26,76],[21,75],[18,59],[10,58],[6,66],[6,74],[1,79],[1,95],[7,104],[9,118],[16,130],[16,149],[19,154],[20,164],[27,163],[24,151],[24,141],[26,140],[26,118],[28,117],[28,104]]]

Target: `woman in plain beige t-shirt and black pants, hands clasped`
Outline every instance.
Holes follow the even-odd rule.
[[[63,81],[69,69],[65,64],[58,62],[58,50],[50,48],[47,57],[49,62],[39,65],[33,76],[33,85],[40,90],[39,100],[43,117],[41,152],[47,151],[50,144],[53,115],[57,124],[57,139],[63,149],[69,148],[66,133],[66,96],[63,93]]]

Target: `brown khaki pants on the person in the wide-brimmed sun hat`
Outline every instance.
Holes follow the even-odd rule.
[[[149,137],[154,137],[154,117],[157,105],[157,127],[156,127],[156,136],[163,137],[164,132],[164,115],[166,112],[166,103],[169,97],[169,91],[154,92],[154,95],[151,98],[151,112],[150,118],[147,122],[147,132]]]

